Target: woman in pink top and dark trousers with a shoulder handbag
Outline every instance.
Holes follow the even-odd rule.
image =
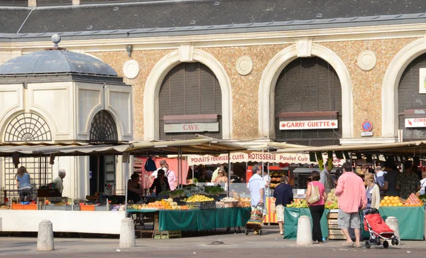
[[[312,182],[307,185],[306,200],[312,216],[312,241],[322,244],[321,217],[324,213],[324,203],[327,201],[327,192],[320,183],[320,172],[311,172]]]

